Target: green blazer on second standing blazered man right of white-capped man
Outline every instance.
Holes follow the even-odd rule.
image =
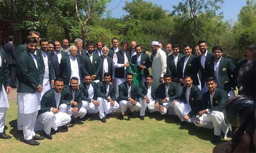
[[[179,68],[177,70],[179,79],[183,78],[182,74],[183,74],[183,66],[184,66],[185,58],[186,56],[180,59]],[[199,61],[195,55],[191,54],[184,70],[184,77],[188,75],[191,76],[193,80],[193,84],[199,85],[199,80],[197,77],[198,71],[199,71]]]

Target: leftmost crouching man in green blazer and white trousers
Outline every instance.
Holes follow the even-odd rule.
[[[59,111],[59,105],[62,100],[61,91],[63,90],[62,78],[54,80],[54,87],[45,92],[41,100],[41,109],[38,111],[36,119],[35,131],[44,129],[44,137],[52,139],[51,128],[57,131],[58,127],[68,129],[68,124],[71,121],[67,113]]]

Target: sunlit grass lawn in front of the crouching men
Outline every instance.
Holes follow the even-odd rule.
[[[212,152],[216,144],[210,143],[213,132],[197,128],[194,124],[176,125],[172,115],[164,118],[159,113],[148,115],[141,121],[139,112],[127,120],[119,120],[119,113],[98,120],[98,114],[81,122],[76,120],[68,132],[52,133],[52,140],[41,140],[39,146],[22,142],[17,131],[17,105],[9,102],[5,125],[12,139],[0,139],[1,152]],[[42,135],[43,132],[39,132]],[[230,138],[228,138],[230,140]],[[21,142],[20,142],[21,141]],[[226,140],[222,140],[224,142]]]

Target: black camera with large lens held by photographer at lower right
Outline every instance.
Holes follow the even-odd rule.
[[[233,135],[233,150],[245,133],[251,136],[251,149],[255,151],[253,135],[255,130],[255,103],[249,96],[239,95],[231,98],[225,107],[225,119],[231,125],[238,128]]]

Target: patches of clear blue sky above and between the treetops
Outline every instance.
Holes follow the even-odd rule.
[[[111,17],[121,18],[123,15],[127,13],[122,9],[124,6],[124,2],[132,2],[132,0],[122,0],[120,5],[112,10]],[[177,5],[180,0],[145,0],[153,2],[157,5],[162,5],[163,9],[171,12],[173,10],[172,5]],[[108,10],[115,8],[119,4],[120,0],[112,0],[108,6]],[[222,4],[222,8],[218,12],[223,11],[224,20],[237,20],[237,14],[241,10],[242,6],[246,5],[246,0],[224,0],[224,4]]]

